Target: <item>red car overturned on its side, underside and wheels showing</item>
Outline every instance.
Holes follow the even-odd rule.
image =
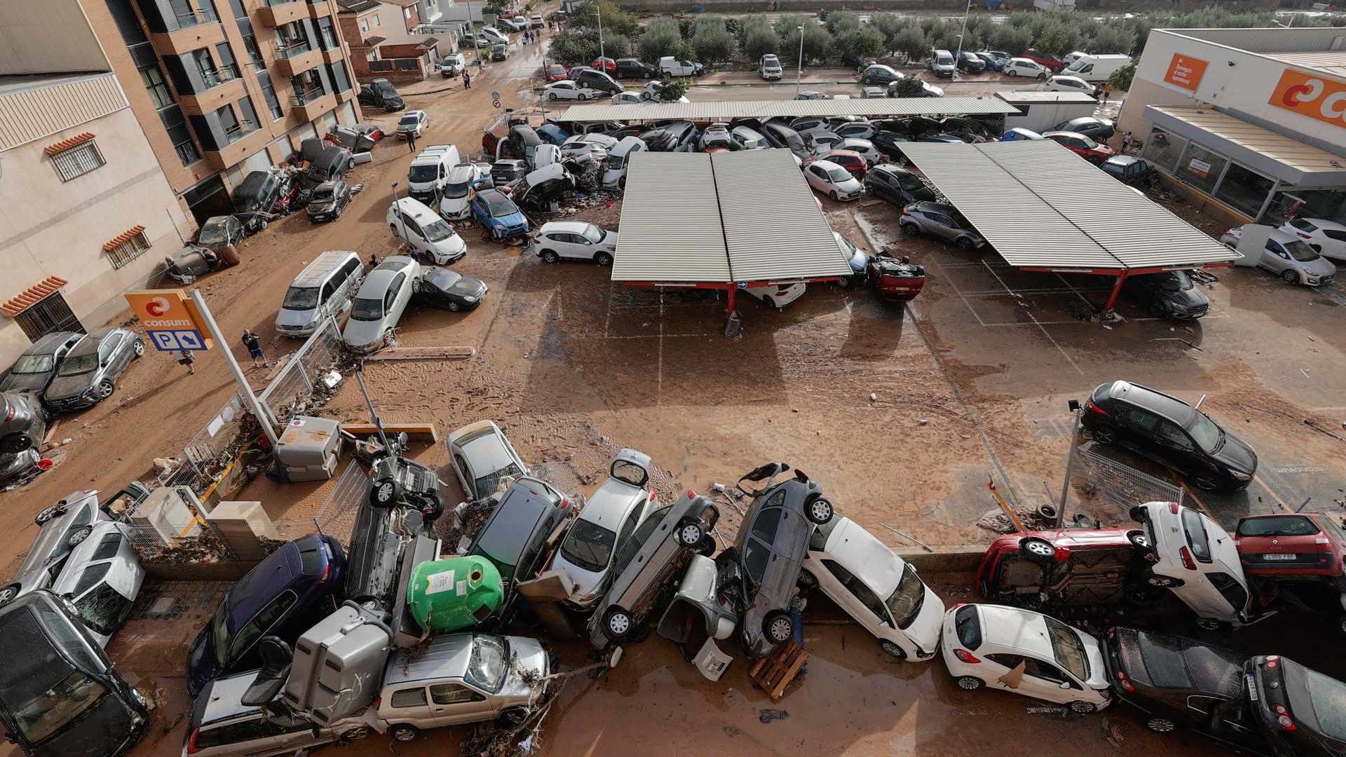
[[[1019,606],[1117,605],[1141,582],[1149,540],[1139,528],[1063,528],[1007,533],[977,566],[989,602]]]

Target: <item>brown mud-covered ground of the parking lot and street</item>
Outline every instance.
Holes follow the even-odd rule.
[[[521,105],[520,92],[540,63],[541,48],[532,46],[489,66],[468,92],[460,79],[429,82],[441,86],[424,89],[447,92],[408,97],[411,108],[431,116],[420,145],[452,141],[464,155],[478,154],[481,127],[498,113],[490,93],[499,92],[506,106]],[[693,98],[735,98],[736,89],[696,88]],[[367,120],[392,125],[396,114]],[[411,156],[404,144],[385,140],[374,163],[351,176],[365,187],[343,218],[314,226],[297,214],[273,224],[249,240],[242,265],[205,279],[199,286],[225,333],[257,331],[273,358],[292,352],[297,343],[273,330],[289,280],[327,249],[355,249],[366,259],[394,249],[384,217],[390,185],[405,182]],[[1342,509],[1342,284],[1311,291],[1260,271],[1225,269],[1207,291],[1213,307],[1203,321],[1154,321],[1124,304],[1127,321],[1104,326],[1079,314],[1085,303],[1101,304],[1105,282],[1018,273],[993,253],[902,238],[895,209],[879,201],[824,206],[852,241],[925,264],[929,283],[921,298],[903,307],[870,291],[816,286],[783,312],[743,298],[744,334],[730,341],[721,335],[724,300],[713,292],[615,286],[607,269],[546,265],[462,228],[470,253],[454,268],[483,279],[490,294],[472,312],[409,314],[400,341],[466,345],[476,354],[370,364],[374,403],[385,420],[433,422],[441,438],[495,419],[530,465],[584,494],[623,446],[653,457],[661,469],[654,485],[665,497],[732,484],[762,462],[782,459],[820,481],[843,515],[888,544],[911,546],[884,525],[954,546],[991,536],[975,525],[995,508],[988,475],[1024,505],[1046,501],[1047,489],[1059,492],[1066,400],[1125,377],[1189,401],[1209,395],[1202,407],[1257,447],[1261,469],[1248,492],[1197,493],[1222,521],[1277,501],[1298,506],[1306,497],[1312,497],[1310,509]],[[614,198],[611,207],[604,199],[567,218],[611,229],[618,211]],[[237,341],[227,346],[244,354]],[[73,489],[110,492],[145,477],[152,458],[176,454],[214,415],[233,384],[217,353],[198,354],[197,368],[187,376],[151,353],[125,373],[110,400],[61,420],[54,438],[73,442],[59,447],[58,466],[0,494],[0,548],[11,571],[36,533],[34,513]],[[265,385],[265,369],[248,373]],[[324,412],[366,416],[353,381]],[[455,481],[443,445],[417,457]],[[460,493],[450,486],[446,498],[456,501]],[[258,478],[238,498],[260,500],[273,519],[297,521],[312,516],[331,488]],[[1124,515],[1084,505],[1104,520]],[[724,536],[734,533],[735,520],[725,511]],[[940,590],[949,603],[969,601],[965,583],[965,577],[949,579]],[[182,749],[186,644],[199,626],[195,616],[201,607],[209,613],[218,595],[207,589],[178,593],[195,609],[174,621],[176,636],[155,638],[163,624],[132,621],[109,647],[133,683],[163,696],[151,735],[133,754]],[[809,621],[840,620],[822,605],[810,607]],[[856,626],[809,622],[805,645],[813,655],[809,672],[778,704],[751,688],[742,659],[711,684],[666,641],[633,645],[607,676],[565,684],[536,753],[1039,756],[1063,753],[1065,745],[1084,753],[1221,753],[1197,737],[1151,735],[1121,709],[1062,717],[1018,696],[958,691],[941,661],[890,661]],[[583,649],[559,653],[569,667],[584,663]],[[762,722],[763,710],[789,717]],[[396,753],[452,754],[463,733],[440,729],[397,745]],[[389,746],[373,737],[349,752],[384,754]]]

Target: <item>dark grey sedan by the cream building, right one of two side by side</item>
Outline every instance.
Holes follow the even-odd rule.
[[[112,396],[131,361],[145,354],[145,342],[129,329],[90,331],[74,346],[42,399],[57,412],[93,407]]]

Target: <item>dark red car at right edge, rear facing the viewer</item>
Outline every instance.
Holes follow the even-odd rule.
[[[1342,579],[1346,533],[1320,513],[1244,516],[1234,544],[1248,575]]]

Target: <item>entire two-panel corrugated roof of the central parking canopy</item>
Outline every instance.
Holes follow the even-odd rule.
[[[787,150],[629,158],[614,282],[808,282],[851,275]]]

